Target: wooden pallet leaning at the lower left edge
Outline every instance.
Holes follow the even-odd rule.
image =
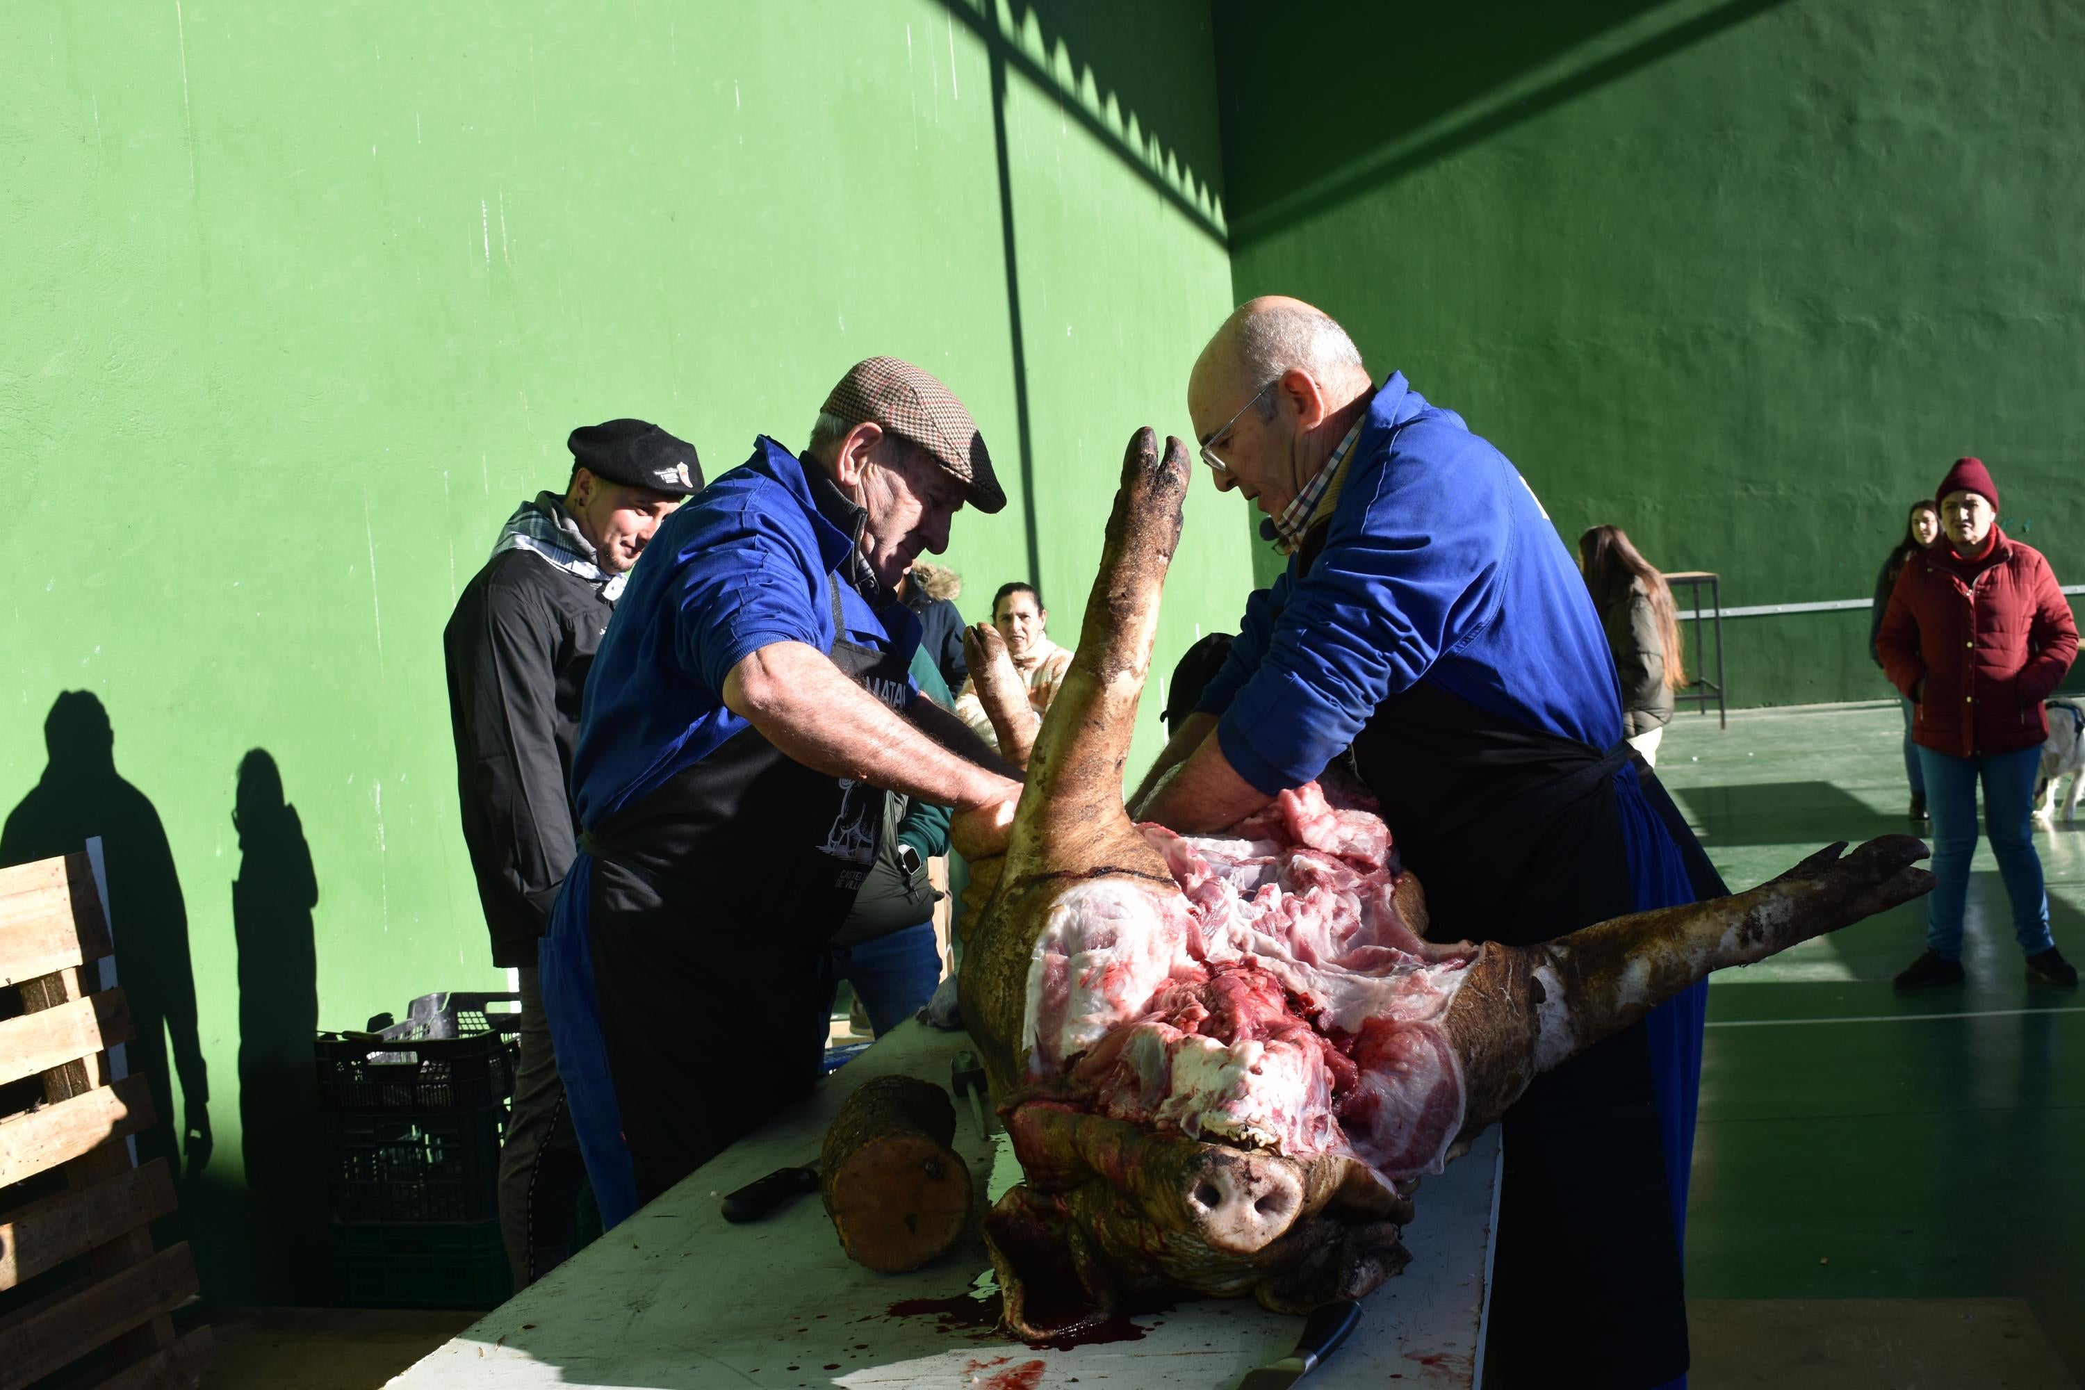
[[[175,1336],[169,1313],[196,1296],[188,1244],[152,1250],[173,1211],[165,1159],[131,1161],[154,1123],[146,1077],[113,1079],[127,1042],[123,990],[102,990],[108,919],[85,854],[0,869],[0,988],[23,1015],[0,1021],[0,1086],[42,1075],[44,1102],[0,1117],[0,1188],[56,1169],[65,1190],[0,1213],[0,1290],[85,1257],[88,1273],[0,1319],[0,1390],[29,1386],[108,1346],[98,1390],[194,1390],[211,1330]]]

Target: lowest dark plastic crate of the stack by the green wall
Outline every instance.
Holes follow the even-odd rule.
[[[513,1292],[498,1221],[334,1221],[332,1255],[334,1302],[350,1309],[492,1309]]]

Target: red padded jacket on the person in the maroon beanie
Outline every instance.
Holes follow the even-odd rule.
[[[2041,552],[1991,527],[1993,550],[1964,565],[1941,542],[1897,575],[1874,646],[1906,696],[1920,679],[1912,742],[1966,759],[2050,736],[2041,702],[2079,652],[2079,629]]]

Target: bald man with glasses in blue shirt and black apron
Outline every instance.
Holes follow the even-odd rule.
[[[1499,450],[1403,375],[1378,386],[1339,323],[1286,298],[1224,323],[1188,413],[1289,567],[1147,777],[1145,819],[1230,825],[1351,759],[1449,938],[1539,942],[1720,892],[1628,761],[1599,615]],[[1505,1117],[1487,1384],[1685,1373],[1699,1027],[1695,990]]]

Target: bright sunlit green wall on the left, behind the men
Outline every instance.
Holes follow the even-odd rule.
[[[957,519],[965,611],[1032,575],[1076,638],[1122,446],[1188,431],[1230,306],[1207,8],[29,0],[0,52],[0,790],[42,775],[63,690],[100,698],[186,902],[204,1290],[313,1298],[246,1182],[300,1104],[298,1009],[315,988],[361,1025],[498,986],[440,661],[498,523],[563,486],[578,423],[657,419],[715,473],[757,431],[801,444],[851,361],[894,352],[970,402],[1017,494]],[[1199,488],[1161,661],[1236,617],[1249,569],[1234,500]],[[246,982],[250,1011],[284,1002],[242,1065],[250,748],[319,902],[256,923],[311,932],[315,982]],[[119,902],[115,932],[175,923]],[[298,954],[246,950],[250,975]]]

